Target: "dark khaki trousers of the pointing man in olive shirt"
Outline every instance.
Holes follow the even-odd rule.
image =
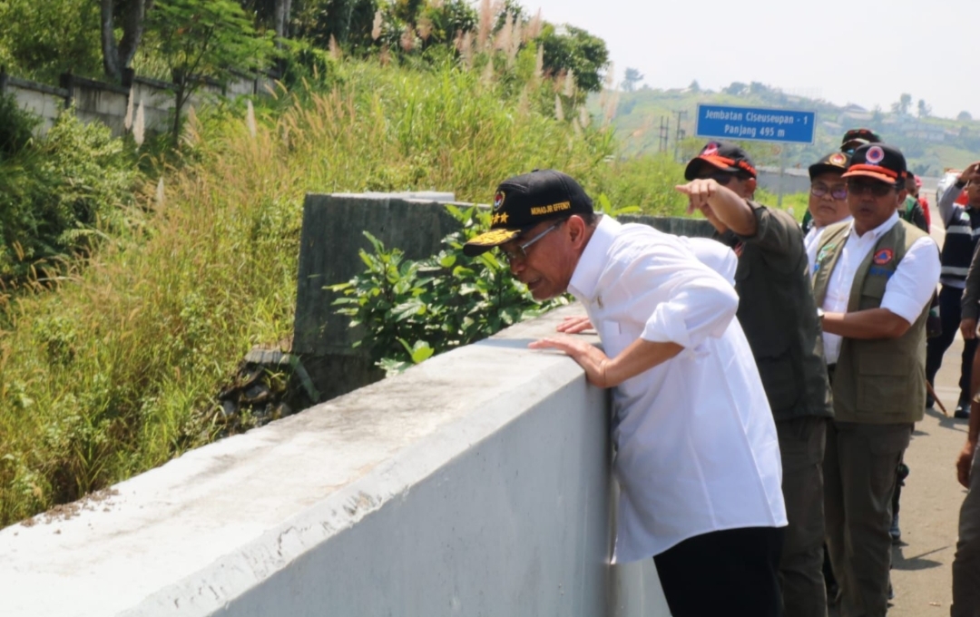
[[[826,617],[823,584],[823,452],[830,418],[776,422],[789,526],[779,560],[785,617]]]

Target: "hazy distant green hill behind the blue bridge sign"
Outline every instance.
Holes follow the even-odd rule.
[[[617,100],[609,99],[611,96]],[[697,82],[689,88],[672,90],[643,86],[632,92],[595,95],[589,101],[590,110],[596,116],[603,115],[604,111],[608,115],[614,105],[612,121],[624,155],[661,152],[662,133],[665,133],[665,151],[677,152],[679,159],[694,156],[705,141],[694,137],[699,103],[816,112],[813,144],[791,144],[782,152],[777,144],[743,142],[760,166],[778,166],[781,156],[785,156],[788,167],[809,166],[838,148],[844,131],[856,127],[871,128],[885,141],[901,148],[909,167],[919,175],[937,176],[946,167],[963,167],[980,160],[980,121],[919,118],[881,109],[866,110],[858,105],[841,107],[821,99],[788,94],[758,82],[734,82],[720,91],[702,90]],[[678,113],[683,131],[679,143]]]

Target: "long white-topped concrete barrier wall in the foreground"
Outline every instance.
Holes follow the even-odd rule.
[[[667,615],[565,308],[0,531],[5,617]]]

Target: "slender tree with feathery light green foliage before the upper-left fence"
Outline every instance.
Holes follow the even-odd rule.
[[[174,146],[183,107],[206,78],[226,82],[231,71],[265,69],[273,55],[270,38],[259,36],[232,0],[157,0],[149,24],[176,87]]]

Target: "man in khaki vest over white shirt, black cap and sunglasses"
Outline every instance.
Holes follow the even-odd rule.
[[[886,614],[896,468],[923,415],[940,264],[932,239],[899,218],[906,175],[896,148],[858,147],[843,175],[854,219],[823,231],[814,266],[834,394],[824,502],[842,617]]]

